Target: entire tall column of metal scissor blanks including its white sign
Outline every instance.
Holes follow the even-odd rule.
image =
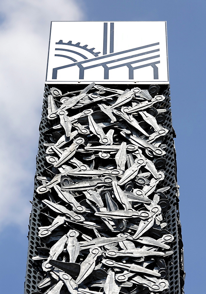
[[[25,294],[184,293],[169,89],[166,22],[52,22]]]

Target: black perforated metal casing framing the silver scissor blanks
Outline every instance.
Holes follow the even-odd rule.
[[[47,248],[45,243],[41,243],[38,237],[38,227],[45,225],[42,223],[42,213],[43,205],[41,203],[41,194],[36,193],[36,188],[38,183],[36,181],[36,176],[45,176],[45,146],[44,143],[50,143],[48,134],[45,133],[47,129],[50,128],[50,123],[47,119],[47,97],[50,94],[50,88],[56,85],[45,85],[45,93],[43,99],[43,109],[42,118],[39,126],[39,145],[38,145],[38,155],[36,157],[36,175],[34,183],[34,198],[32,211],[29,220],[29,248],[28,248],[28,258],[26,266],[26,281],[25,281],[25,292],[32,293],[38,292],[38,283],[44,278],[44,273],[42,268],[39,266],[38,261],[32,260],[32,257],[38,255],[38,247]],[[75,91],[79,88],[83,88],[81,85],[58,85],[56,86],[62,92]],[[125,90],[125,88],[133,88],[133,85],[110,85],[111,88],[118,88]],[[146,89],[149,85],[138,85],[141,89]],[[163,181],[163,186],[170,186],[170,194],[168,194],[168,199],[170,201],[170,207],[166,215],[164,216],[165,222],[167,222],[167,229],[174,236],[174,241],[172,243],[172,250],[174,253],[165,258],[167,261],[168,268],[168,281],[169,289],[165,290],[163,293],[167,294],[179,294],[183,292],[184,285],[184,268],[183,268],[183,249],[182,249],[182,239],[181,239],[181,225],[179,221],[179,192],[176,179],[176,158],[175,158],[175,147],[173,138],[175,137],[175,132],[172,128],[172,117],[170,110],[170,91],[168,85],[160,85],[160,95],[164,95],[166,98],[163,102],[156,103],[156,108],[165,108],[166,119],[164,122],[164,127],[169,129],[168,134],[164,137],[163,144],[166,144],[166,165],[165,165],[165,179]]]

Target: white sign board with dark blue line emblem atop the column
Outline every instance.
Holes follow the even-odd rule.
[[[168,84],[165,21],[52,21],[47,83]]]

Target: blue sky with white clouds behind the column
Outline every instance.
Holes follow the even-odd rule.
[[[185,293],[205,289],[205,13],[202,0],[1,0],[2,293],[22,294],[50,21],[167,21]]]

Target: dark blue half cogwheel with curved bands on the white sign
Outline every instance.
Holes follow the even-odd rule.
[[[92,56],[95,56],[97,57],[101,52],[94,52],[94,49],[95,48],[87,48],[88,45],[84,45],[84,46],[81,46],[80,45],[80,42],[76,43],[76,44],[72,44],[72,41],[69,41],[67,43],[64,43],[62,40],[56,42],[56,45],[67,45],[67,46],[73,46],[73,47],[76,47],[75,48],[72,48],[72,49],[66,49],[66,48],[56,48],[55,50],[59,50],[59,51],[66,51],[66,52],[70,52],[72,54],[69,54],[71,56],[67,56],[67,55],[62,55],[62,54],[55,54],[55,56],[59,56],[59,57],[64,57],[64,58],[67,58],[67,59],[70,59],[72,60],[73,62],[76,62],[76,61],[80,61],[79,58],[81,57],[81,60],[82,58],[83,59],[89,59],[89,58],[92,58]],[[69,48],[67,47],[67,48]],[[78,49],[77,49],[78,48]],[[87,52],[85,52],[87,51]],[[78,55],[78,57],[74,58],[75,55]],[[92,54],[92,55],[90,55]],[[74,57],[72,57],[74,56]]]

